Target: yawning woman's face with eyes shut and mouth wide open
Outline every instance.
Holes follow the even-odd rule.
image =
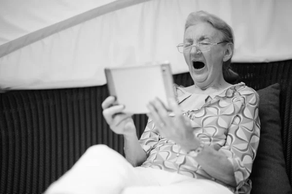
[[[201,41],[219,43],[222,34],[211,24],[206,22],[190,26],[184,32],[183,43],[198,44]],[[190,74],[195,84],[201,88],[207,88],[216,84],[222,75],[222,58],[224,48],[222,44],[213,45],[210,51],[198,52],[195,47],[190,53],[183,53],[185,62],[189,67]]]

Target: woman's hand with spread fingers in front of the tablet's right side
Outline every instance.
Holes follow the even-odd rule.
[[[169,100],[169,108],[175,116],[174,119],[168,115],[168,110],[159,98],[155,98],[147,105],[147,114],[158,127],[160,134],[175,141],[183,149],[189,151],[200,145],[200,141],[194,136],[190,120],[182,114],[182,110],[174,99]]]

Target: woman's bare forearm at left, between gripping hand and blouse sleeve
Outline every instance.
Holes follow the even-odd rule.
[[[139,144],[136,134],[124,135],[124,142],[124,150],[128,162],[136,167],[146,161],[146,152]]]

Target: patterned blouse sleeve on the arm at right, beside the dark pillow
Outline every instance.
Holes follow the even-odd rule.
[[[258,94],[252,89],[238,93],[242,106],[228,128],[225,145],[219,149],[233,165],[237,191],[251,174],[260,134]]]

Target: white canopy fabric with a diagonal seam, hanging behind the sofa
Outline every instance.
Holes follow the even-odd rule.
[[[0,0],[0,90],[106,83],[108,66],[169,61],[187,15],[205,10],[235,32],[233,62],[292,59],[291,0]]]

